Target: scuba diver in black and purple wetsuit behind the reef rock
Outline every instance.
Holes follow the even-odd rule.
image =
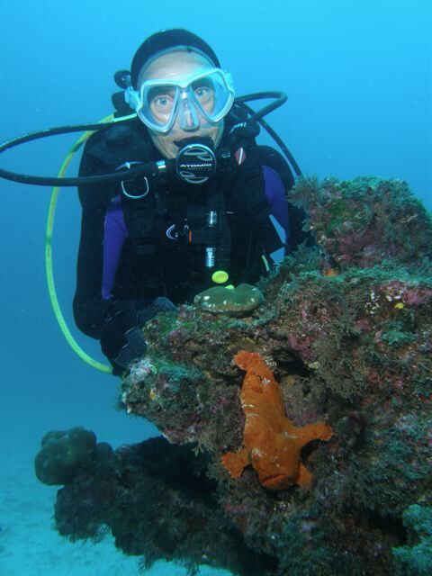
[[[285,200],[290,167],[257,145],[257,122],[235,103],[232,79],[204,40],[157,32],[115,80],[117,113],[136,115],[87,140],[79,176],[176,163],[171,174],[78,187],[76,325],[100,340],[120,375],[146,351],[146,320],[211,286],[256,283],[274,269],[275,251],[288,253],[303,233],[300,211]]]

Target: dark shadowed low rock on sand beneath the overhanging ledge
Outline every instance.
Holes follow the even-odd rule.
[[[82,468],[58,491],[58,532],[73,541],[99,541],[111,531],[125,554],[142,556],[142,569],[158,559],[259,576],[275,559],[247,549],[229,526],[205,475],[206,458],[185,446],[150,438],[121,446],[103,463]]]

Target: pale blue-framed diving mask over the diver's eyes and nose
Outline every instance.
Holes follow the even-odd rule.
[[[166,133],[177,118],[182,130],[197,129],[200,116],[217,123],[234,102],[234,88],[227,72],[210,68],[176,79],[147,80],[139,91],[128,88],[125,98],[150,130]]]

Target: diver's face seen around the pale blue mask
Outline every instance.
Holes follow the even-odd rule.
[[[182,76],[189,76],[210,69],[211,63],[196,52],[186,50],[175,50],[155,58],[147,67],[144,67],[139,74],[139,88],[148,80],[176,80]],[[170,94],[157,94],[152,106],[153,115],[157,120],[164,121],[166,106],[169,104]],[[211,102],[204,103],[211,106]],[[223,131],[223,120],[216,123],[209,123],[202,117],[198,109],[193,110],[193,119],[188,120],[188,114],[184,114],[182,119],[177,115],[173,127],[166,133],[148,129],[151,139],[156,148],[166,158],[175,158],[180,148],[175,145],[184,138],[191,136],[208,136],[213,140],[216,148],[220,142]],[[181,124],[181,125],[180,125]]]

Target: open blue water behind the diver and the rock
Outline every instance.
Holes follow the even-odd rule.
[[[153,31],[186,27],[209,41],[238,94],[282,90],[268,116],[305,174],[406,180],[432,208],[430,0],[2,2],[0,139],[112,112],[113,73]],[[76,136],[7,152],[0,165],[55,175]],[[76,163],[72,166],[76,169]],[[77,358],[50,309],[44,229],[50,191],[0,181],[2,442],[36,451],[51,428],[139,441],[155,428],[115,410],[118,383]],[[60,304],[73,326],[80,211],[64,189],[54,231]],[[409,233],[407,229],[407,233]]]

